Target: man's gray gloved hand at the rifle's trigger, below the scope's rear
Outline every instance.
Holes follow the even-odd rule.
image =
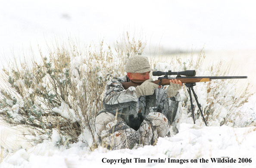
[[[159,87],[159,85],[152,82],[153,79],[148,79],[144,81],[140,86],[136,86],[136,95],[137,98],[140,96],[148,96],[153,95],[155,89]]]

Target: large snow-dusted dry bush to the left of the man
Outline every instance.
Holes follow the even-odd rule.
[[[93,150],[97,144],[94,122],[103,108],[106,81],[123,75],[125,60],[141,54],[143,47],[128,34],[114,47],[103,41],[83,50],[71,43],[56,44],[47,55],[40,52],[39,61],[7,67],[3,70],[0,116],[10,125],[31,128],[39,141],[56,129],[62,137],[59,145],[80,138]],[[84,136],[79,137],[81,133]]]

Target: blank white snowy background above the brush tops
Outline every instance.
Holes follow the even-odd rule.
[[[129,31],[165,50],[256,49],[253,0],[0,0],[0,55],[55,39],[109,44]],[[18,53],[19,54],[19,53]]]

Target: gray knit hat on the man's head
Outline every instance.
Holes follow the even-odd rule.
[[[125,72],[130,73],[144,73],[153,70],[150,67],[147,57],[132,56],[128,58],[125,64]]]

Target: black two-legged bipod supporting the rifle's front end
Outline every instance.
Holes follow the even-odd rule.
[[[196,102],[197,102],[197,106],[198,106],[198,108],[199,108],[199,110],[200,110],[200,113],[201,113],[201,116],[203,117],[203,121],[204,121],[204,123],[205,123],[205,125],[207,126],[207,123],[206,123],[206,121],[205,121],[205,119],[204,119],[204,116],[203,116],[203,111],[202,111],[202,109],[201,109],[201,105],[199,104],[199,102],[198,102],[198,100],[197,100],[197,95],[196,95],[196,93],[195,93],[195,91],[194,91],[194,89],[193,89],[193,86],[196,86],[196,83],[185,83],[185,86],[187,86],[187,92],[188,92],[188,94],[189,94],[189,97],[190,97],[190,105],[191,105],[191,110],[192,110],[192,116],[193,116],[193,121],[194,121],[194,124],[196,123],[195,122],[195,115],[194,115],[194,104],[193,104],[193,102],[192,102],[192,94],[191,94],[191,90],[192,90],[192,92],[193,92],[193,95],[194,95],[194,98],[195,98],[195,100],[196,100]]]

